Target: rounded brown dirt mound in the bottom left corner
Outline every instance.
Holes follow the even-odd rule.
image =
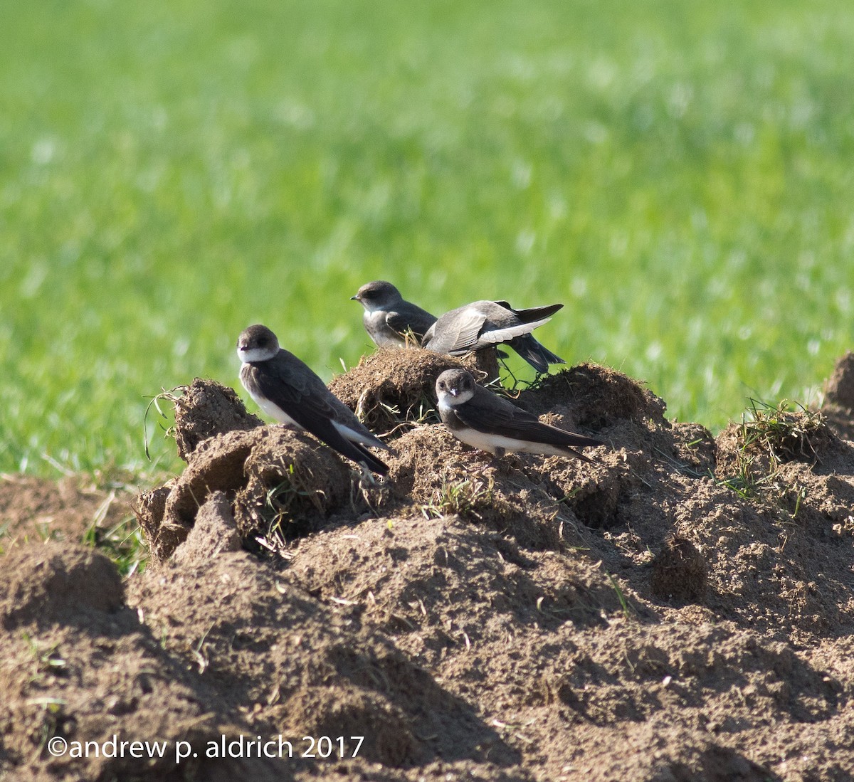
[[[11,630],[0,634],[0,776],[225,780],[236,773],[227,758],[207,761],[204,748],[248,723],[163,649],[137,610],[123,607],[106,557],[67,544],[26,546],[0,559],[0,580],[9,588],[0,620]],[[137,739],[165,742],[163,756],[119,755],[116,741]],[[177,765],[178,741],[200,759]],[[97,755],[83,751],[86,742],[97,743]],[[252,761],[239,767],[264,771]]]

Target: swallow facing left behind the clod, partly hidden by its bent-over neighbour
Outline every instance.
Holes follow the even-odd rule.
[[[362,285],[350,299],[365,307],[362,322],[368,336],[379,347],[407,347],[407,331],[412,331],[420,341],[424,332],[436,323],[436,316],[404,301],[401,292],[383,280]]]

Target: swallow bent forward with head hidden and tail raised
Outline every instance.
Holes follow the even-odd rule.
[[[564,364],[564,359],[543,347],[530,332],[547,323],[562,306],[514,310],[506,301],[474,301],[445,312],[430,326],[421,344],[436,353],[459,356],[506,342],[536,371],[546,372],[548,365]]]

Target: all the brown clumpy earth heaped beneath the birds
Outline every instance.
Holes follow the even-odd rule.
[[[0,779],[854,777],[851,354],[827,421],[774,437],[670,423],[600,366],[518,394],[593,465],[456,441],[430,410],[456,364],[333,381],[393,448],[374,484],[194,381],[124,580],[79,541],[126,493],[0,481]],[[114,736],[167,750],[48,751]],[[293,758],[246,756],[279,736]],[[321,736],[346,757],[301,757]]]

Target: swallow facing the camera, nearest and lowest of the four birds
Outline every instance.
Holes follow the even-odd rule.
[[[532,413],[477,385],[465,370],[446,370],[436,379],[439,417],[451,433],[466,445],[504,456],[507,451],[574,456],[592,460],[576,447],[602,446],[592,437],[541,423]]]

